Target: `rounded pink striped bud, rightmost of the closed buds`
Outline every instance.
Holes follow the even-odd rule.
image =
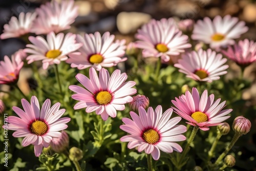
[[[251,129],[251,122],[243,116],[234,118],[233,130],[239,134],[247,134]]]

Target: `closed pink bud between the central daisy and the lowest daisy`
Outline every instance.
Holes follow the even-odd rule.
[[[134,111],[138,112],[139,107],[142,106],[145,110],[150,105],[150,100],[144,95],[137,95],[133,97],[133,101],[129,103],[129,107]]]

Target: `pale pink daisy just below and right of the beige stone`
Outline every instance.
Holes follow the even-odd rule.
[[[191,47],[187,44],[188,36],[182,35],[173,18],[152,19],[135,36],[139,39],[137,48],[143,49],[143,57],[161,57],[163,61],[169,61],[169,55],[179,55]]]

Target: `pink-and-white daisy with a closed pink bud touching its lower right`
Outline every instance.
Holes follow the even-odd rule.
[[[90,68],[90,79],[82,74],[77,74],[76,79],[87,89],[72,85],[70,90],[77,94],[72,98],[79,100],[74,109],[86,108],[86,112],[96,111],[103,120],[109,116],[116,117],[116,110],[124,110],[124,104],[133,101],[130,95],[137,92],[132,87],[136,84],[134,81],[124,82],[127,79],[125,73],[115,70],[113,74],[102,68],[99,71],[99,77],[94,68]]]

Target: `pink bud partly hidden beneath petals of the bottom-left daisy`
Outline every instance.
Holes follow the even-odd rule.
[[[61,137],[53,138],[51,142],[52,149],[56,153],[61,153],[69,147],[69,136],[65,131],[61,131]]]

